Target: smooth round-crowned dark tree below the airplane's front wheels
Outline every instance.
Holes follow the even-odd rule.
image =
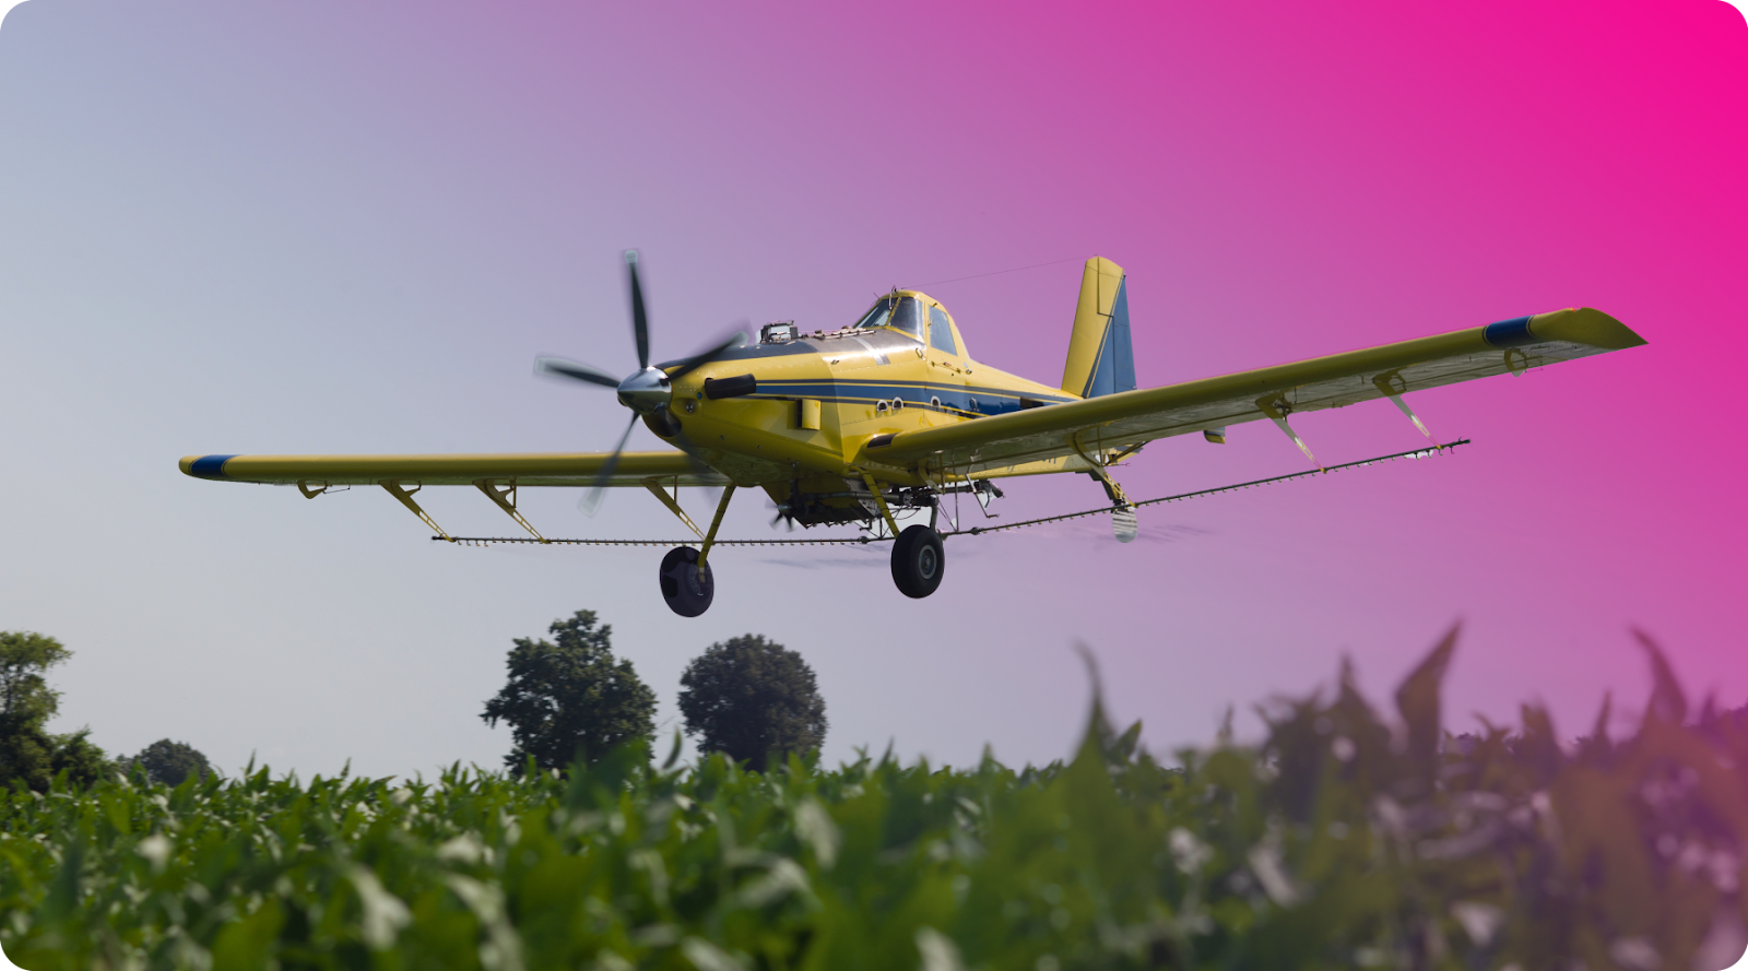
[[[825,742],[825,699],[813,669],[759,634],[710,644],[685,665],[680,686],[685,733],[704,751],[762,768]]]

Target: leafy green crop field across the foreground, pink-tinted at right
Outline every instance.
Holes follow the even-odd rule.
[[[1449,657],[1400,720],[1344,669],[1267,709],[1262,744],[1176,767],[1094,704],[1072,761],[1021,772],[675,768],[633,740],[568,777],[14,789],[0,948],[33,971],[1694,966],[1745,903],[1748,733],[1669,720],[1659,665],[1631,739],[1605,720],[1568,751],[1531,707],[1460,746]]]

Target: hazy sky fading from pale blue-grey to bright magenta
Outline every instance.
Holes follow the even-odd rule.
[[[678,725],[685,664],[759,632],[818,672],[827,761],[1072,753],[1091,697],[1166,753],[1231,707],[1388,706],[1453,625],[1447,725],[1549,706],[1626,730],[1633,630],[1748,702],[1739,403],[1748,23],[1669,3],[152,5],[0,24],[0,630],[73,658],[56,730],[234,770],[495,767],[512,637],[594,609]],[[208,452],[603,451],[610,393],[732,321],[851,323],[923,286],[974,358],[1054,384],[1080,264],[1126,267],[1169,384],[1591,306],[1648,346],[1414,393],[1446,458],[883,550],[724,548],[662,604],[649,548],[456,548],[381,491],[184,477]],[[1386,402],[1295,417],[1327,463],[1418,447]],[[1148,445],[1131,496],[1299,472],[1269,423]],[[659,440],[643,430],[633,447]],[[1092,508],[1086,477],[995,512]],[[549,536],[666,538],[640,491]],[[741,492],[725,534],[769,536]],[[430,489],[453,534],[514,534]],[[694,519],[704,494],[683,498]],[[981,519],[979,513],[970,513]]]

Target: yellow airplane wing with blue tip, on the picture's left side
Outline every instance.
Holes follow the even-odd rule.
[[[531,452],[482,456],[187,456],[182,472],[218,482],[273,486],[594,486],[612,452]],[[685,452],[621,452],[607,486],[727,486],[729,477],[696,465]]]

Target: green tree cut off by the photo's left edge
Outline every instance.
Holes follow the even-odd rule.
[[[42,791],[56,774],[89,786],[108,774],[103,749],[89,728],[51,735],[45,728],[61,707],[47,671],[73,657],[59,641],[30,630],[0,630],[0,786],[24,782]]]

